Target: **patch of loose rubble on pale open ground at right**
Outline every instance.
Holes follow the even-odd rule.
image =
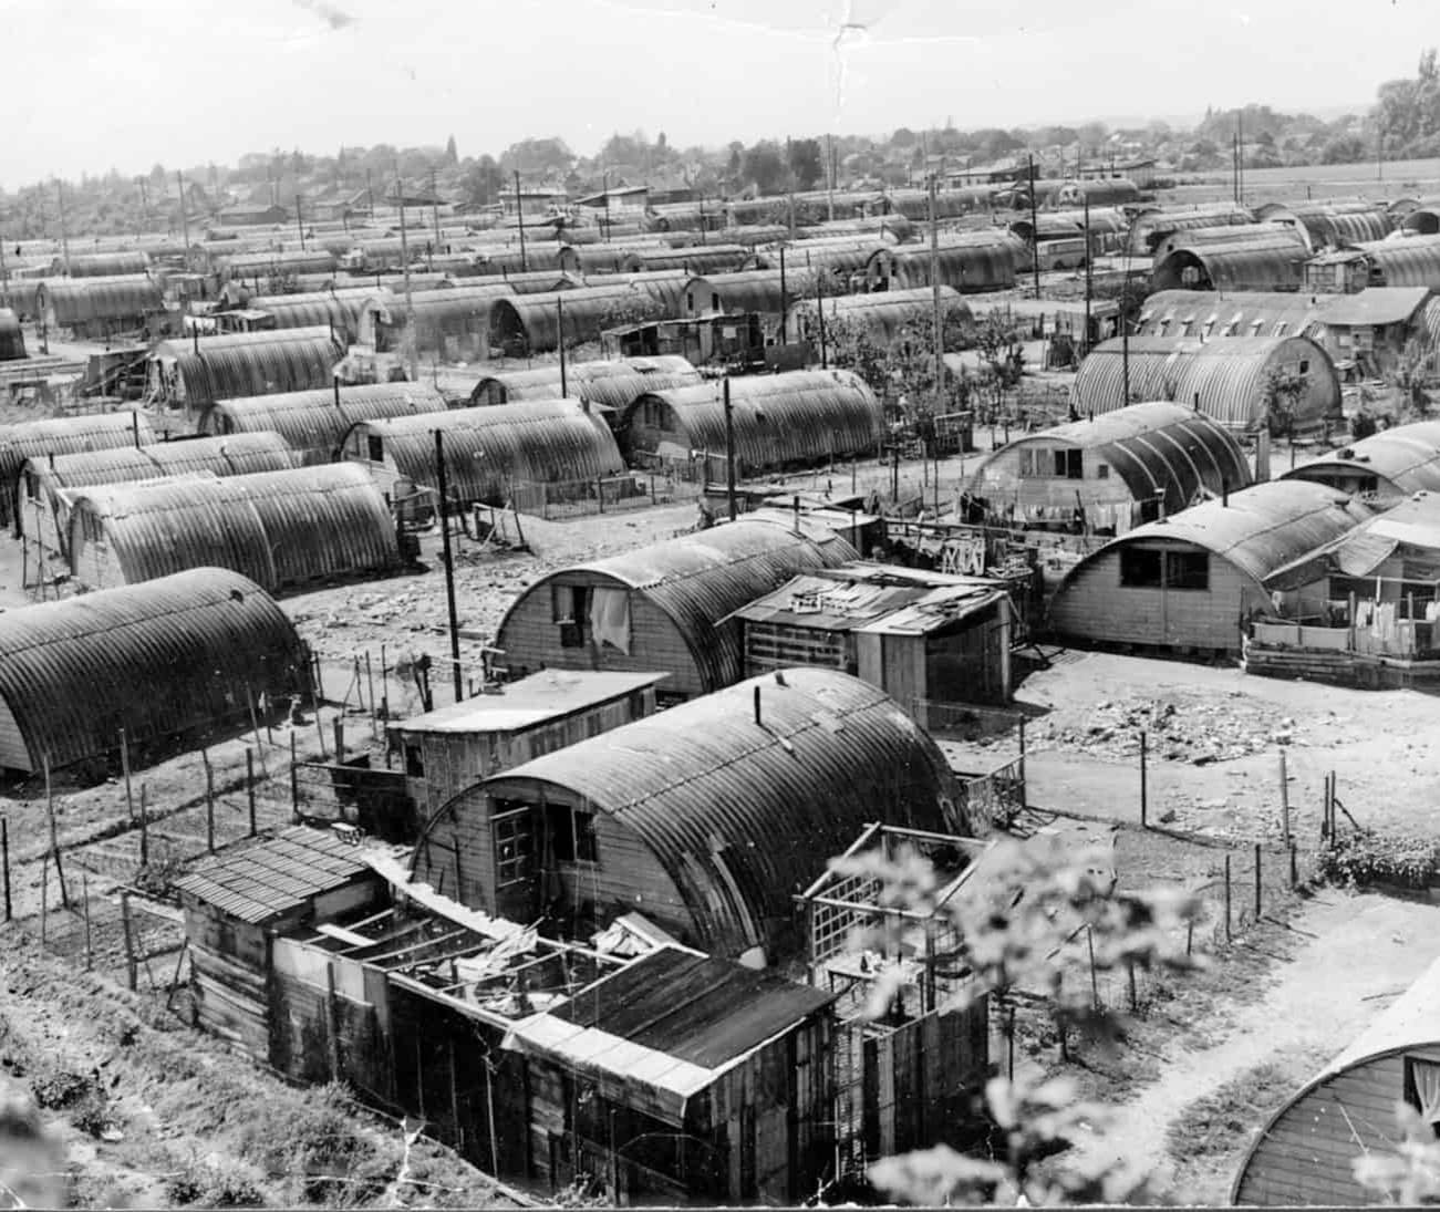
[[[1139,753],[1145,733],[1152,757],[1207,766],[1274,746],[1303,744],[1293,718],[1238,691],[1218,705],[1184,694],[1104,701],[1084,718],[1083,725],[1040,724],[1032,733],[1035,747],[1132,757]]]

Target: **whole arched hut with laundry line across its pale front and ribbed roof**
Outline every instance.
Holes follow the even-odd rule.
[[[1125,534],[1250,484],[1250,461],[1230,430],[1155,402],[1022,435],[981,459],[966,492],[995,520]]]

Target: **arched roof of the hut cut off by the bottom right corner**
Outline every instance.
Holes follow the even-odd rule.
[[[1308,1098],[1323,1090],[1336,1077],[1351,1072],[1361,1065],[1374,1064],[1387,1058],[1424,1051],[1433,1055],[1440,1051],[1440,1031],[1436,1029],[1436,999],[1440,998],[1440,960],[1427,967],[1420,977],[1394,1002],[1390,1003],[1375,1021],[1365,1028],[1338,1057],[1335,1057],[1313,1078],[1302,1085],[1290,1098],[1266,1121],[1264,1127],[1250,1141],[1246,1157],[1236,1170],[1234,1182],[1230,1186],[1230,1202],[1233,1205],[1253,1205],[1259,1192],[1254,1186],[1254,1169],[1263,1166],[1266,1153],[1272,1147],[1272,1136],[1276,1129],[1296,1117]],[[1401,1101],[1404,1091],[1395,1090],[1395,1101]],[[1372,1116],[1358,1116],[1358,1124],[1352,1120],[1349,1134],[1355,1144],[1354,1159],[1365,1156],[1371,1149],[1394,1152],[1395,1129],[1391,1118],[1377,1126]],[[1356,1130],[1358,1129],[1358,1130]],[[1309,1152],[1299,1146],[1299,1152]],[[1326,1176],[1323,1183],[1326,1193],[1323,1199],[1306,1199],[1306,1203],[1339,1205],[1349,1200],[1355,1203],[1378,1202],[1372,1193],[1359,1185],[1351,1169],[1352,1157],[1342,1157],[1339,1163],[1326,1159]],[[1284,1179],[1280,1180],[1284,1186]],[[1349,1185],[1352,1190],[1341,1190],[1339,1185]],[[1280,1200],[1266,1200],[1280,1206]],[[1283,1200],[1283,1205],[1300,1203],[1302,1196],[1295,1192]]]

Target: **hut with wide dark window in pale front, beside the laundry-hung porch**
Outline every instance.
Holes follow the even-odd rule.
[[[1274,609],[1266,577],[1372,514],[1319,484],[1257,484],[1083,558],[1056,592],[1050,623],[1089,642],[1238,654],[1248,623]]]

